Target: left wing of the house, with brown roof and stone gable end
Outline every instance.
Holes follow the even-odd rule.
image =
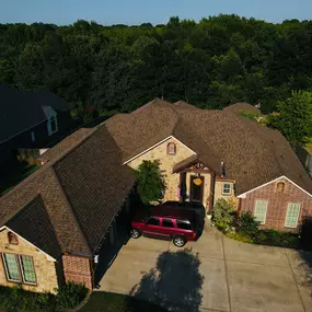
[[[107,240],[114,244],[135,178],[105,127],[78,131],[0,198],[0,285],[42,292],[66,280],[94,287],[95,258]]]

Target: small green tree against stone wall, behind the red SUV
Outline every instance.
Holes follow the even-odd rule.
[[[159,166],[159,161],[146,161],[136,171],[138,193],[145,204],[158,201],[165,192],[164,178]]]

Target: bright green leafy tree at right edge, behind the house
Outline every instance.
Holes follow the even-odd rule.
[[[278,103],[279,112],[269,116],[269,125],[277,128],[292,147],[304,145],[312,136],[312,92],[292,92]]]

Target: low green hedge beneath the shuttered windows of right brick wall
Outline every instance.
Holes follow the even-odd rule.
[[[259,230],[255,234],[255,243],[262,245],[296,249],[299,246],[299,236],[294,233],[275,230]]]

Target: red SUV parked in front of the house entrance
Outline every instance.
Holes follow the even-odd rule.
[[[198,226],[193,211],[178,211],[167,215],[163,209],[154,208],[149,217],[137,215],[131,222],[131,238],[141,234],[163,239],[172,239],[177,247],[183,247],[187,241],[195,241]],[[176,216],[172,216],[176,215]]]

